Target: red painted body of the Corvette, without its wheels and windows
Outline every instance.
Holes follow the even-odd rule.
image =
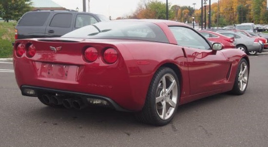
[[[79,96],[88,102],[89,99],[102,101],[95,104],[106,101],[119,111],[140,112],[160,68],[169,67],[176,74],[180,85],[178,103],[181,105],[232,90],[240,61],[249,63],[248,56],[239,49],[211,49],[211,44],[203,36],[183,23],[167,20],[115,22],[150,23],[163,31],[167,43],[69,37],[16,40],[13,62],[22,95]],[[170,26],[200,35],[210,49],[178,45],[177,37],[183,36],[174,36]],[[86,51],[92,48],[96,52]],[[118,54],[109,56],[104,53],[107,49],[114,49]],[[87,57],[96,59],[89,62]],[[114,63],[107,62],[114,61],[114,57]]]

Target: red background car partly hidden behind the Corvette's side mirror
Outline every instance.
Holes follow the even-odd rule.
[[[231,48],[235,49],[235,45],[233,44],[234,38],[233,37],[227,37],[225,35],[222,35],[220,33],[215,33],[212,31],[199,31],[204,37],[206,37],[211,42],[218,42],[223,45],[223,49]]]

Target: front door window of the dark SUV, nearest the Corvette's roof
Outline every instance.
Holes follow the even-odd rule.
[[[81,28],[87,25],[97,23],[97,20],[91,15],[78,14],[75,28]]]

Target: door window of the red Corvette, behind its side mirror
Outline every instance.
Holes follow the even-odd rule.
[[[178,45],[195,49],[211,49],[208,42],[193,30],[185,27],[169,28],[177,40]]]

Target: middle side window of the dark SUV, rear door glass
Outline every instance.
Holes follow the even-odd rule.
[[[72,23],[72,14],[56,14],[51,22],[50,27],[70,28]]]

